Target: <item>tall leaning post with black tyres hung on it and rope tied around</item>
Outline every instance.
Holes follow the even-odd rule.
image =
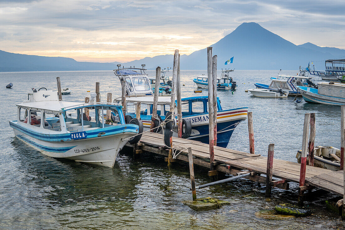
[[[174,55],[174,66],[172,68],[172,86],[171,86],[171,100],[170,100],[170,113],[172,115],[168,119],[173,119],[175,117],[175,97],[176,97],[176,82],[177,82],[177,68],[178,68],[178,49],[175,50]],[[167,117],[166,117],[167,118]],[[172,136],[170,137],[170,147],[168,155],[168,166],[172,162]]]

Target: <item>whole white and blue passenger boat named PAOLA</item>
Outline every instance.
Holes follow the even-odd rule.
[[[56,91],[47,90],[29,93],[17,107],[17,120],[9,122],[14,135],[51,157],[113,167],[127,138],[140,138],[134,137],[139,126],[125,124],[118,104],[60,101]],[[82,113],[83,109],[89,112]],[[105,110],[115,114],[114,125],[101,117]]]

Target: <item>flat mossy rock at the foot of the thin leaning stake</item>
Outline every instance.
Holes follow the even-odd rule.
[[[190,201],[190,200],[183,201],[183,204],[189,206],[189,208],[195,211],[207,211],[207,210],[223,207],[224,205],[230,204],[230,202],[219,200],[216,198],[205,197],[205,198],[196,199],[195,201]]]

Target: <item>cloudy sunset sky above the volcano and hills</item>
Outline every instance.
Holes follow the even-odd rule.
[[[243,22],[345,49],[344,12],[344,0],[0,0],[0,50],[95,62],[189,55]]]

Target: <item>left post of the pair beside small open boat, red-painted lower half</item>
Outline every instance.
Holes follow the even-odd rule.
[[[308,133],[310,124],[310,113],[304,115],[303,138],[302,138],[302,153],[301,153],[301,168],[299,172],[299,189],[298,189],[298,204],[303,204],[303,191],[301,187],[305,185],[305,172],[307,165],[307,148],[308,148]]]

